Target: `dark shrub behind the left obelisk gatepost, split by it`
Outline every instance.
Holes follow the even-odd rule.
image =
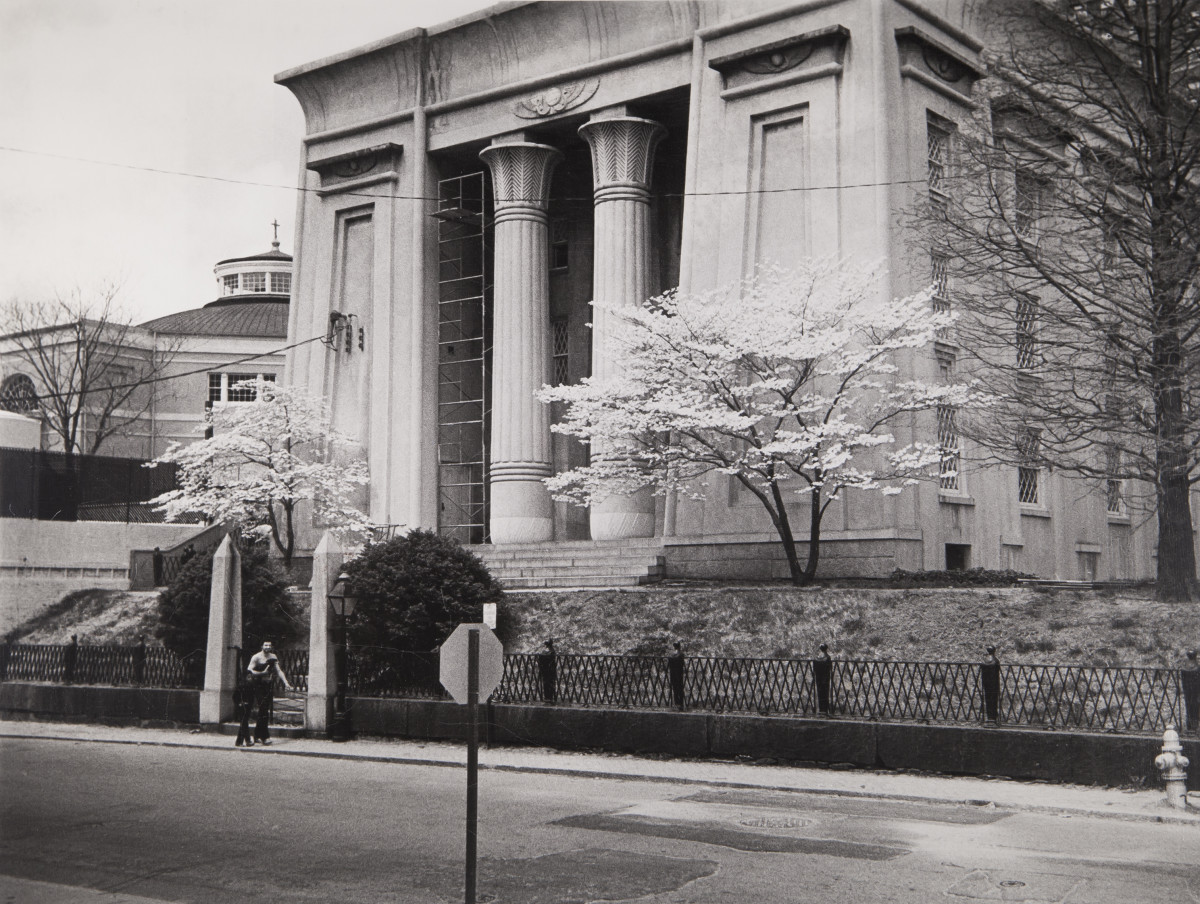
[[[270,561],[268,545],[244,537],[238,549],[241,552],[241,648],[256,651],[264,640],[278,643],[294,640],[296,622],[287,579]],[[211,586],[212,552],[202,552],[187,559],[175,580],[158,594],[156,635],[181,657],[204,655]]]

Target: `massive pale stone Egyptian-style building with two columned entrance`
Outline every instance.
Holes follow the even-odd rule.
[[[636,305],[809,256],[893,262],[889,295],[936,280],[928,253],[899,265],[913,252],[894,212],[977,103],[970,6],[503,4],[281,73],[307,124],[288,337],[326,337],[289,352],[288,378],[360,444],[372,517],[485,544],[518,582],[522,561],[582,585],[664,565],[785,575],[767,513],[732,480],[703,499],[553,502],[542,479],[586,453],[534,393],[611,367],[593,299]],[[917,375],[954,353],[940,343]],[[974,468],[931,414],[910,430],[960,467],[839,499],[821,574],[1154,574],[1152,522],[1103,487]]]

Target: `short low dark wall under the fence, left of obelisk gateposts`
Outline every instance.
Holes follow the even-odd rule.
[[[0,684],[0,718],[150,725],[194,725],[200,692],[90,684]]]

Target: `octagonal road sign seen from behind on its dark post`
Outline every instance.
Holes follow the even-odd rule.
[[[439,655],[442,687],[467,705],[467,890],[464,904],[475,904],[479,830],[479,702],[504,677],[504,648],[486,624],[460,624]]]

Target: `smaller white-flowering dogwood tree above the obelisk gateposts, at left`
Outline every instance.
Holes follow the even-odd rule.
[[[330,430],[324,400],[263,379],[235,387],[252,401],[214,405],[208,438],[173,443],[156,462],[179,466],[179,489],[154,499],[170,521],[204,515],[265,534],[292,564],[296,508],[312,503],[313,520],[343,541],[373,527],[355,497],[367,484],[366,462],[337,455],[350,441]]]

